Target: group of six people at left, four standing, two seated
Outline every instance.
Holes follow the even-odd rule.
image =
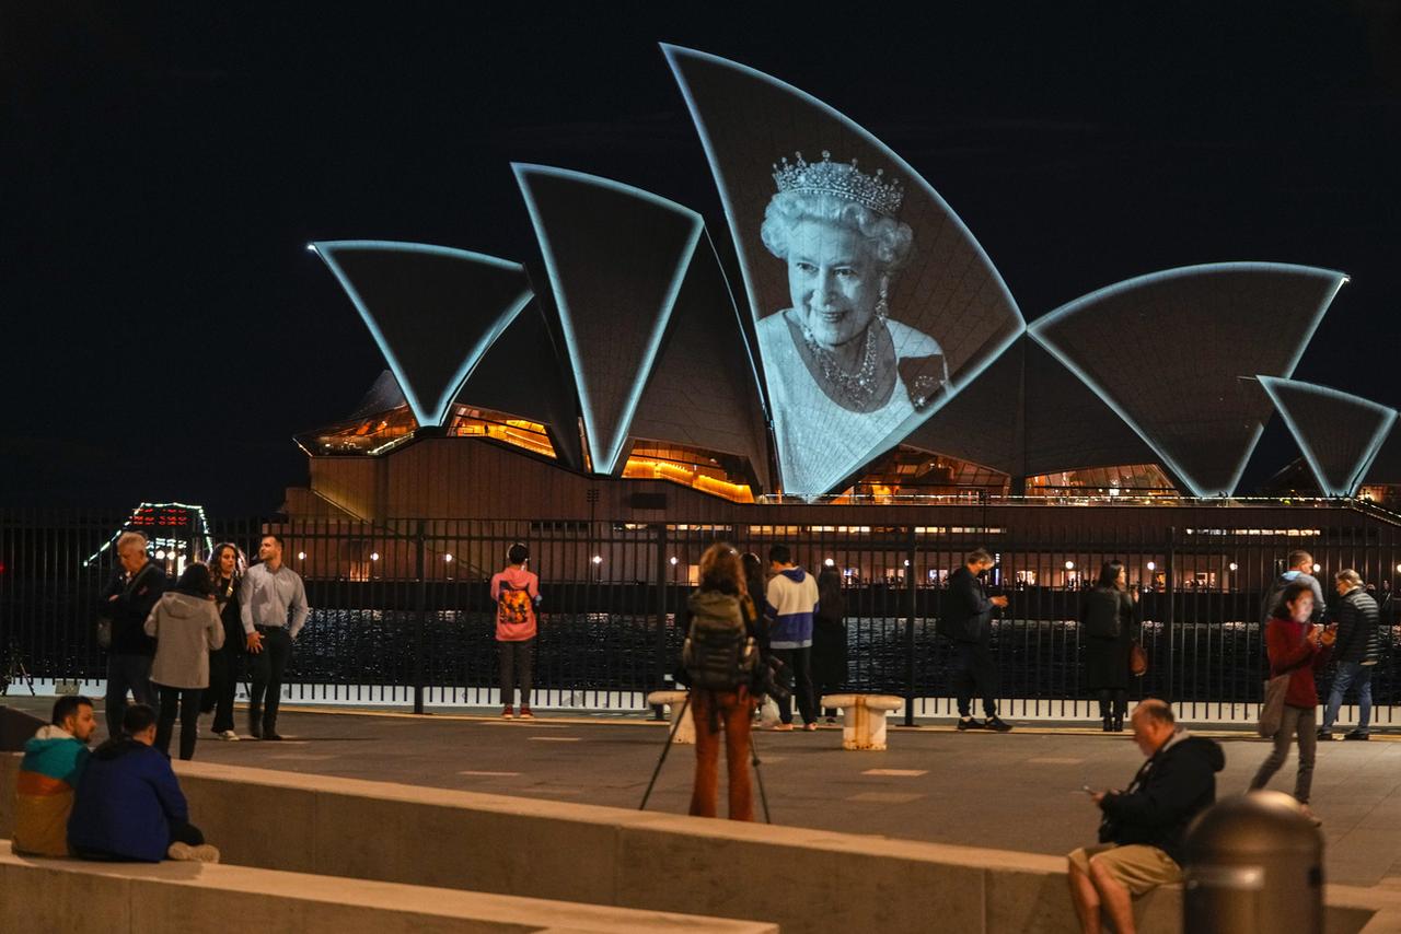
[[[200,713],[214,714],[216,737],[238,739],[234,693],[247,662],[249,732],[282,738],[282,679],[310,613],[301,577],[282,563],[282,539],[265,535],[251,567],[238,546],[220,543],[174,584],[147,550],[146,536],[123,532],[119,570],[101,595],[106,739],[88,749],[98,725],[91,699],[57,699],[24,748],[15,853],[217,863],[171,769],[177,720],[181,759],[195,756]]]

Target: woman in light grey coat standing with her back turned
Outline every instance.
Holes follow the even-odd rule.
[[[195,758],[199,734],[199,696],[209,686],[209,653],[224,644],[224,623],[214,608],[209,569],[191,564],[175,590],[161,597],[146,618],[146,634],[156,637],[151,685],[161,697],[156,746],[167,756],[179,710],[179,758]]]

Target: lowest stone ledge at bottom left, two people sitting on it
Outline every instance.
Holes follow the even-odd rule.
[[[233,921],[237,919],[237,923]],[[22,857],[0,840],[0,930],[776,934],[776,924],[198,863]]]

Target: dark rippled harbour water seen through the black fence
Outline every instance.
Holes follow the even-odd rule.
[[[1377,703],[1391,703],[1390,627],[1373,678]],[[846,620],[846,689],[904,693],[913,660],[916,695],[948,690],[954,653],[934,634],[934,620],[916,619],[911,655],[905,622]],[[995,622],[993,651],[1007,697],[1073,699],[1082,688],[1079,625],[1052,620]],[[672,616],[658,637],[656,616],[621,613],[544,615],[537,648],[537,685],[553,689],[650,690],[672,669],[681,633]],[[422,633],[412,612],[317,611],[303,630],[296,676],[321,683],[490,686],[496,681],[495,616],[486,612],[429,613]],[[1160,623],[1143,625],[1150,669],[1140,690],[1182,700],[1259,700],[1264,648],[1257,623],[1178,623],[1171,640]],[[663,664],[658,664],[658,660]],[[1328,675],[1320,678],[1327,689]]]

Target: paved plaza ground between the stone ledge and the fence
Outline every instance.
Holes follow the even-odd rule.
[[[7,702],[34,713],[50,703]],[[196,759],[636,808],[665,738],[661,724],[615,716],[523,723],[284,707],[279,727],[284,742],[200,737]],[[1244,731],[1209,735],[1226,749],[1219,793],[1243,791],[1269,746]],[[843,752],[836,727],[755,739],[775,823],[1048,854],[1093,840],[1096,811],[1082,786],[1122,787],[1142,763],[1129,734],[1072,727],[898,728],[888,752]],[[692,763],[693,746],[672,748],[649,809],[685,814]],[[1292,781],[1293,756],[1271,787]],[[1320,744],[1313,807],[1330,881],[1401,877],[1401,737]]]

